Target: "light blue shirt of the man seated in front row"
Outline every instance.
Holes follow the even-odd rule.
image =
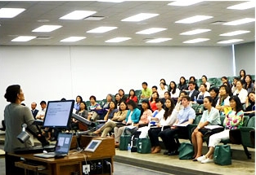
[[[195,110],[192,107],[184,107],[177,114],[177,124],[182,124],[188,121],[189,119],[195,119]]]

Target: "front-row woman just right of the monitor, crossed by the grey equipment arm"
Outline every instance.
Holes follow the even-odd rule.
[[[88,119],[88,110],[85,102],[80,102],[79,110],[75,113],[79,116],[83,116],[83,118]],[[79,129],[79,130],[87,130],[88,125],[82,124],[79,120],[75,120],[74,118],[71,119],[71,129]]]

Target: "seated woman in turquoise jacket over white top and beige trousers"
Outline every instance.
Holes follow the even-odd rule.
[[[120,128],[115,127],[114,129],[116,147],[119,147],[120,137],[121,137],[121,134],[124,132],[125,127],[128,125],[137,124],[140,120],[141,110],[137,108],[137,103],[135,103],[133,100],[130,100],[128,101],[127,105],[129,110],[125,120],[123,121],[123,124],[125,126]]]

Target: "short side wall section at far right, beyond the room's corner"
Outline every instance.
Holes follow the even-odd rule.
[[[241,69],[246,74],[255,75],[255,42],[249,42],[235,46],[236,75],[239,76]]]

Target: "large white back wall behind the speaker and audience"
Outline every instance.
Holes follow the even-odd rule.
[[[78,94],[87,101],[92,94],[102,99],[121,88],[140,90],[142,81],[151,87],[161,78],[230,76],[231,64],[231,46],[2,46],[0,120],[12,84],[21,85],[27,106]]]

